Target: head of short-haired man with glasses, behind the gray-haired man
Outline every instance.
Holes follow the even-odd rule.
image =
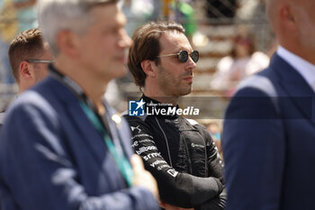
[[[52,55],[39,29],[17,35],[10,44],[8,54],[19,93],[47,76],[47,65],[52,62]]]

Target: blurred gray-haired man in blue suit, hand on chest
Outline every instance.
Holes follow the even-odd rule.
[[[157,183],[132,156],[130,128],[103,94],[125,74],[130,38],[115,0],[42,0],[49,77],[7,111],[2,210],[158,209]]]

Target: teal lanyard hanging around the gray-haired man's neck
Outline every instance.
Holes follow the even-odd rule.
[[[130,162],[116,150],[111,138],[107,132],[105,132],[103,124],[100,122],[100,119],[96,116],[96,114],[94,114],[94,112],[92,112],[92,110],[83,101],[80,101],[80,105],[87,118],[94,124],[95,129],[103,135],[103,141],[105,142],[108,150],[111,152],[118,169],[121,171],[122,177],[125,178],[128,186],[130,187],[133,179],[133,171],[130,166]]]

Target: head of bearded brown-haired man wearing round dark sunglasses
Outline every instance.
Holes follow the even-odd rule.
[[[146,96],[184,96],[191,92],[199,58],[174,22],[146,23],[132,36],[128,66]]]

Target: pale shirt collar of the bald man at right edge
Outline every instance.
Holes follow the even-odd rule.
[[[311,89],[315,92],[315,65],[293,54],[293,52],[284,49],[284,47],[282,46],[278,47],[276,53],[287,63],[289,63],[293,68],[295,68],[302,75],[302,78],[306,80]]]

